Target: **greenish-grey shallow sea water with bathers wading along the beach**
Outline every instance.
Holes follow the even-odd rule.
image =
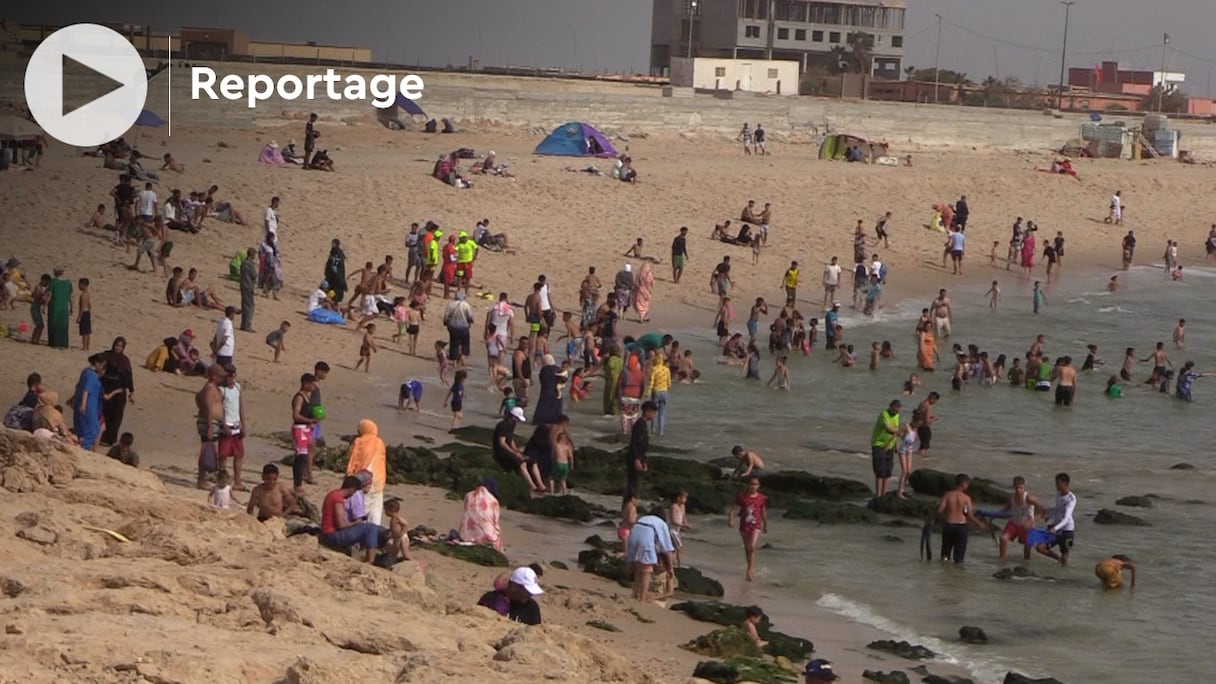
[[[1158,341],[1166,343],[1176,368],[1194,360],[1198,369],[1216,371],[1216,270],[1187,269],[1186,281],[1172,282],[1160,268],[1136,268],[1121,274],[1125,290],[1115,293],[1105,291],[1109,273],[1070,273],[1046,290],[1040,315],[1031,313],[1029,281],[1015,273],[993,273],[1003,290],[996,310],[987,308],[986,287],[952,290],[953,337],[939,340],[944,360],[936,372],[921,374],[923,386],[913,397],[902,396],[901,388],[916,371],[913,325],[928,301],[889,302],[872,319],[845,302],[841,323],[857,366],[833,365],[835,354],[822,348],[821,331],[821,348],[810,358],[792,358],[788,393],[742,380],[737,366],[716,365],[716,338],[708,327],[669,331],[694,351],[704,375],[700,385],[672,388],[668,433],[659,442],[689,449],[687,458],[699,460],[730,455],[732,445],[742,444],[759,452],[770,471],[806,470],[872,483],[869,434],[878,413],[901,399],[902,415],[910,416],[917,402],[938,391],[942,398],[935,407],[940,421],[931,455],[914,458],[913,467],[968,472],[1006,488],[1020,475],[1048,508],[1055,473],[1069,472],[1079,499],[1071,565],[1060,567],[1035,554],[1026,565],[1053,579],[1001,582],[992,578],[996,570],[1024,561],[1014,545],[1002,566],[987,532],[973,532],[967,564],[956,567],[918,561],[918,528],[822,526],[783,520],[775,511],[764,539],[771,548],[759,554],[756,582],[744,596],[727,600],[761,602],[795,619],[801,606],[815,605],[924,644],[980,683],[1000,682],[1007,669],[1069,683],[1210,680],[1216,655],[1204,635],[1216,630],[1216,497],[1210,492],[1216,482],[1210,455],[1216,444],[1216,376],[1195,382],[1190,404],[1141,385],[1150,364],[1137,366],[1121,399],[1109,399],[1103,391],[1107,379],[1118,375],[1126,347],[1144,358]],[[799,307],[806,318],[822,320],[817,302],[799,301]],[[1187,319],[1186,349],[1171,342],[1180,318]],[[993,360],[1003,353],[1012,363],[1024,357],[1037,333],[1047,336],[1047,355],[1071,355],[1079,369],[1086,344],[1099,346],[1105,366],[1081,374],[1071,408],[1057,408],[1051,392],[1007,382],[951,391],[951,343],[974,343]],[[884,340],[894,344],[895,359],[872,372],[871,342]],[[766,346],[766,331],[758,342]],[[767,380],[772,360],[764,355]],[[1195,470],[1170,469],[1178,462]],[[1115,506],[1115,499],[1128,494],[1159,498],[1152,509]],[[1152,527],[1094,525],[1092,516],[1102,508],[1141,516]],[[738,536],[724,521],[698,521],[687,537],[692,565],[715,576],[742,574]],[[935,536],[935,555],[939,544]],[[1093,574],[1097,561],[1118,553],[1136,561],[1135,592],[1103,592]],[[964,624],[983,627],[991,643],[959,644]],[[794,632],[788,619],[781,626]]]

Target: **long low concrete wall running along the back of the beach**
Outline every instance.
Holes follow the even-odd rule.
[[[277,65],[213,65],[225,73],[308,73]],[[0,101],[24,102],[19,63],[0,63]],[[345,69],[339,73],[350,73]],[[368,72],[370,75],[370,72]],[[990,110],[952,105],[855,102],[821,97],[775,97],[739,94],[732,100],[710,96],[663,97],[657,86],[629,83],[557,80],[522,77],[427,73],[418,103],[433,117],[455,120],[492,120],[507,125],[552,129],[568,120],[586,120],[625,134],[679,130],[733,136],[743,122],[764,124],[770,138],[851,133],[888,140],[895,151],[908,144],[928,146],[992,146],[1047,150],[1079,136],[1083,113],[1059,118],[1040,112]],[[168,116],[168,77],[161,72],[148,83],[147,107]],[[322,118],[340,119],[372,114],[371,103],[268,101],[257,110],[243,102],[190,101],[190,74],[173,69],[174,125],[253,128],[287,123],[309,111]],[[1114,117],[1107,117],[1111,120]],[[1119,117],[1128,123],[1136,114]],[[1216,158],[1216,125],[1175,122],[1182,130],[1183,150],[1200,158]]]

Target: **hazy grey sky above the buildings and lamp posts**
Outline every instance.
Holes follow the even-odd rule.
[[[483,65],[644,73],[649,7],[651,0],[44,0],[13,4],[5,15],[43,23],[236,27],[254,39],[368,46],[377,60],[410,65],[463,65],[473,56]],[[942,68],[976,80],[998,73],[1030,84],[1058,80],[1059,0],[908,0],[908,65],[933,67],[935,12],[945,18]],[[1115,60],[1158,69],[1169,33],[1167,68],[1187,73],[1186,91],[1205,95],[1216,63],[1214,27],[1214,0],[1077,0],[1069,66]]]

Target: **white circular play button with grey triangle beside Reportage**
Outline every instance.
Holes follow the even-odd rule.
[[[126,133],[143,110],[143,60],[122,34],[73,24],[46,37],[26,67],[26,103],[51,138],[95,147]]]

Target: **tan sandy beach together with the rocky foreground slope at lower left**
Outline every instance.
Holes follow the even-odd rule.
[[[744,303],[758,296],[778,301],[782,274],[792,259],[801,264],[799,308],[807,318],[821,315],[823,264],[832,256],[851,263],[852,226],[862,219],[872,234],[877,217],[888,211],[891,247],[877,250],[890,267],[888,301],[928,303],[939,287],[966,284],[974,291],[996,279],[1007,305],[1028,308],[1029,281],[1017,269],[1007,271],[1003,262],[989,264],[993,241],[1000,241],[997,254],[1003,257],[1015,217],[1040,225],[1041,245],[1057,230],[1064,232],[1068,251],[1060,277],[1065,280],[1073,269],[1115,273],[1119,242],[1130,229],[1139,240],[1137,263],[1160,262],[1167,240],[1180,241],[1182,264],[1203,263],[1203,243],[1216,217],[1211,169],[1169,161],[1077,159],[1077,181],[1034,170],[1052,162],[1048,150],[900,148],[896,152],[913,155],[914,166],[889,168],[822,162],[811,145],[773,145],[771,156],[758,158],[744,157],[721,135],[655,134],[614,141],[634,157],[641,174],[641,181],[630,185],[565,170],[587,166],[584,159],[533,157],[540,138],[514,128],[482,125],[456,136],[434,136],[389,131],[370,117],[322,119],[317,127],[337,173],[300,173],[257,162],[261,145],[302,136],[303,122],[297,120],[255,131],[179,127],[171,140],[147,131],[139,140],[146,155],[171,151],[186,166],[181,175],[163,176],[157,189],[162,201],[174,187],[188,192],[218,184],[216,195],[252,224],[209,220],[198,235],[171,234],[171,265],[198,268],[201,282],[212,285],[226,303],[240,303],[236,282],[226,277],[229,260],[260,242],[263,211],[271,196],[281,197],[285,287],[277,302],[259,297],[257,332],[238,332],[236,338],[246,430],[254,436],[247,443],[250,481],[261,464],[283,455],[268,436],[287,430],[298,379],[317,360],[333,366],[323,383],[331,434],[354,432],[359,419],[373,417],[389,444],[449,441],[450,414],[440,408],[443,393],[430,352],[435,340],[446,338],[440,316],[434,315],[443,307],[438,297],[432,298],[433,315],[423,324],[420,355],[411,357],[404,344],[388,340],[385,319],[377,336],[381,351],[372,359],[377,369],[370,374],[353,370],[359,358],[353,325],[305,320],[306,297],[322,277],[334,237],[349,257],[348,274],[364,262],[379,264],[393,254],[400,275],[411,222],[435,220],[447,232],[472,231],[478,219],[489,218],[494,231],[508,234],[511,251],[483,251],[478,290],[506,291],[518,302],[535,276],[545,274],[559,310],[576,309],[579,282],[589,265],[606,282],[626,262],[636,268],[638,262],[623,253],[642,237],[646,252],[663,264],[655,267],[653,323],[643,327],[630,320],[623,326],[624,333],[637,333],[708,330],[716,304],[709,275],[724,254],[736,264],[739,327],[747,316]],[[455,147],[494,150],[516,178],[473,176],[468,190],[443,185],[429,172],[439,153]],[[590,163],[610,168],[602,159]],[[627,590],[578,572],[572,561],[590,534],[586,529],[503,514],[513,562],[562,560],[574,568],[546,567],[541,601],[546,626],[523,629],[474,605],[477,595],[489,589],[494,570],[420,551],[418,564],[401,564],[388,573],[317,550],[310,537],[285,539],[281,529],[241,511],[207,509],[204,494],[191,488],[197,454],[192,394],[202,380],[139,366],[162,338],[184,329],[193,329],[201,342],[209,340],[219,312],[167,305],[159,271],[148,274],[146,265],[143,273],[130,270],[134,250],[125,253],[112,246],[109,235],[80,228],[98,203],[111,204],[114,183],[117,172],[100,168],[98,159],[52,144],[38,170],[5,174],[0,184],[6,207],[0,257],[18,258],[30,284],[55,265],[63,267],[73,282],[89,277],[91,351],[108,349],[117,336],[128,340],[128,355],[136,366],[135,398],[123,430],[135,434],[141,456],[141,469],[133,470],[12,433],[0,436],[4,487],[21,492],[0,499],[0,557],[9,559],[0,576],[9,596],[2,606],[7,635],[0,640],[5,672],[0,679],[688,679],[704,657],[676,645],[711,627],[657,606],[636,609],[643,621],[631,612]],[[1115,190],[1122,192],[1125,226],[1103,223]],[[964,276],[957,277],[941,268],[944,236],[925,224],[931,204],[961,195],[968,197],[972,214]],[[775,211],[758,265],[751,265],[749,250],[709,240],[715,223],[731,218],[738,225],[748,200],[771,202]],[[668,247],[681,225],[689,228],[691,260],[683,280],[674,285]],[[1035,277],[1046,280],[1042,267],[1036,267]],[[400,287],[396,291],[405,295]],[[0,312],[0,321],[10,327],[28,320],[28,307]],[[263,338],[283,320],[292,323],[287,353],[274,364]],[[69,351],[0,341],[6,359],[0,364],[0,385],[10,403],[19,399],[32,371],[41,374],[45,387],[71,396],[86,357],[74,325],[71,340]],[[500,397],[484,391],[484,353],[474,340],[471,385],[477,387],[469,392],[466,424],[490,426]],[[400,415],[396,387],[409,377],[427,385],[423,410]],[[858,408],[872,407],[858,403]],[[599,430],[578,421],[576,431]],[[55,473],[54,480],[47,473]],[[337,483],[333,473],[321,475],[321,484],[310,488],[316,499]],[[443,531],[458,521],[458,503],[438,489],[409,487],[398,493],[411,525]],[[122,532],[131,542],[117,542],[85,525]],[[35,532],[19,533],[28,529]],[[725,600],[732,601],[732,587],[739,583],[722,581]],[[866,668],[911,665],[861,647],[879,638],[874,629],[822,611],[810,615],[816,629],[805,637],[815,641],[817,657],[837,665],[843,682],[861,682]],[[589,627],[591,619],[621,632]],[[157,643],[147,643],[148,632],[159,634]],[[933,671],[958,673],[948,667]]]

